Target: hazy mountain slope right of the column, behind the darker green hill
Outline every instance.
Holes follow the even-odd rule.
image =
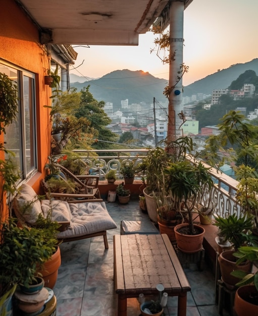
[[[184,87],[183,96],[191,96],[196,93],[212,94],[215,89],[228,88],[233,80],[236,80],[246,70],[253,70],[258,74],[258,59],[253,59],[244,64],[231,65],[227,69],[220,70],[203,79],[197,80]]]

